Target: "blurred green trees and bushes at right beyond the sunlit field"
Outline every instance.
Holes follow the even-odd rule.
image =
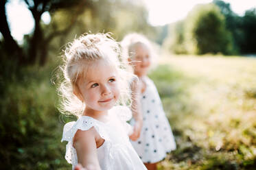
[[[229,3],[197,5],[183,21],[169,26],[163,47],[173,53],[256,53],[256,9],[237,16]]]

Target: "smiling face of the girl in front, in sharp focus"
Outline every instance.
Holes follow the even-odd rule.
[[[117,70],[105,60],[97,60],[89,65],[86,77],[78,80],[78,88],[86,110],[109,110],[119,97]]]

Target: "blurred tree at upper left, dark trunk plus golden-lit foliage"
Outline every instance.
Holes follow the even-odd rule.
[[[45,64],[51,42],[57,36],[59,42],[67,42],[75,35],[88,30],[93,32],[113,32],[121,39],[128,30],[152,32],[147,23],[148,12],[141,1],[110,0],[23,0],[32,12],[35,26],[32,34],[24,36],[23,46],[19,46],[10,34],[5,14],[5,4],[1,8],[1,34],[6,56],[11,56],[20,65]],[[49,12],[51,23],[41,22],[43,12]],[[140,17],[137,17],[140,16]],[[71,33],[71,34],[69,34]],[[51,44],[51,45],[50,45]],[[62,43],[63,45],[63,43]]]

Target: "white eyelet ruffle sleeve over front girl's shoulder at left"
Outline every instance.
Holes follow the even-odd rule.
[[[98,134],[104,139],[108,139],[108,134],[105,132],[102,123],[92,117],[82,116],[77,121],[66,123],[63,127],[62,141],[72,141],[75,133],[78,130],[86,131],[94,127]]]

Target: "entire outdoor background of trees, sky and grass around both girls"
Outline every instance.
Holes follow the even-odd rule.
[[[255,0],[1,0],[0,15],[0,169],[71,169],[58,65],[86,32],[152,41],[177,143],[159,170],[255,169]]]

